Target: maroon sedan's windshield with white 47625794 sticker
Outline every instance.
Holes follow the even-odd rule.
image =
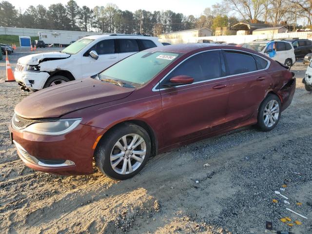
[[[139,87],[154,78],[180,54],[171,52],[138,52],[98,75],[99,79],[116,79]]]

